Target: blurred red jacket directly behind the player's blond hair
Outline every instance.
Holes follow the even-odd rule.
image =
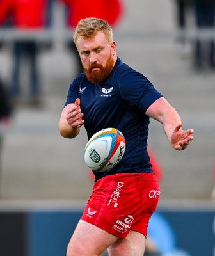
[[[76,28],[79,20],[95,17],[115,26],[123,14],[120,0],[61,0],[68,6],[68,26]]]

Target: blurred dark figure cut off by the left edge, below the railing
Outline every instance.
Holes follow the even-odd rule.
[[[0,79],[0,172],[1,172],[1,152],[3,148],[4,132],[10,126],[12,108],[10,107],[10,100],[6,92],[6,86]]]

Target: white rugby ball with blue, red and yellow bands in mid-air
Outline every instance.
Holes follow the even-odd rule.
[[[95,172],[105,172],[118,164],[125,152],[125,138],[116,128],[95,133],[84,148],[84,161]]]

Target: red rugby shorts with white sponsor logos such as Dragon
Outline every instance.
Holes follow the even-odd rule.
[[[81,219],[114,236],[126,237],[135,230],[147,237],[159,195],[154,173],[108,175],[94,184]]]

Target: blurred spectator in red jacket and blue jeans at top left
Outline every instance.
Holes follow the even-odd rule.
[[[0,24],[3,26],[10,23],[12,28],[26,31],[47,28],[51,24],[51,2],[52,0],[1,0]],[[30,103],[38,106],[40,104],[41,88],[37,65],[38,43],[36,38],[15,39],[13,51],[15,60],[12,76],[12,96],[20,100],[20,72],[23,61],[28,58],[28,65],[25,69],[30,67]],[[26,76],[26,73],[24,76]]]

